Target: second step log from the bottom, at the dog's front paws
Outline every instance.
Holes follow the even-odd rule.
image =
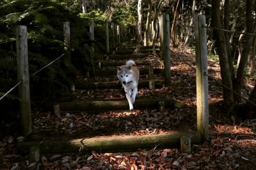
[[[185,107],[186,104],[173,98],[140,98],[134,103],[134,109],[158,108],[158,103],[164,101],[165,108]],[[95,112],[95,111],[110,111],[110,110],[125,110],[129,109],[127,100],[106,100],[106,101],[88,101],[88,102],[65,102],[60,104],[61,111],[65,112]]]

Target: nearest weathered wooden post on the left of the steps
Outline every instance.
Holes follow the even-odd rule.
[[[19,85],[20,117],[22,134],[27,136],[32,132],[32,118],[29,89],[29,68],[28,68],[28,38],[27,27],[17,26],[17,77],[22,81]]]

